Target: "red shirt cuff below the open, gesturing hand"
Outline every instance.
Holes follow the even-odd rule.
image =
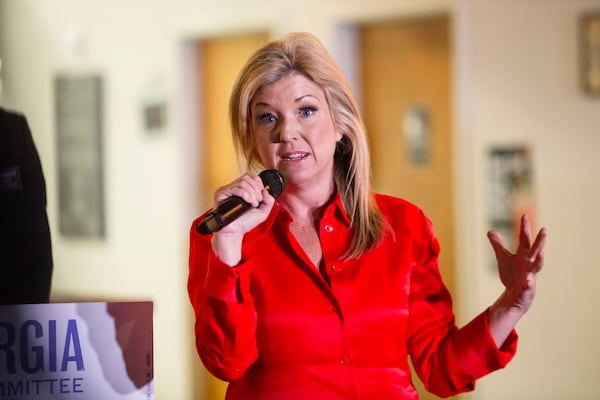
[[[491,335],[485,310],[461,328],[454,343],[458,363],[474,379],[504,368],[517,352],[518,335],[513,329],[500,348]]]

